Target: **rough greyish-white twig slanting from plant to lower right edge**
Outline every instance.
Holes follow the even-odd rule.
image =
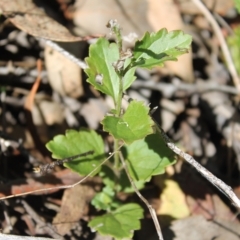
[[[152,118],[153,119],[153,118]],[[164,142],[167,146],[175,152],[177,155],[185,159],[189,164],[191,164],[204,178],[206,178],[210,183],[212,183],[219,191],[221,191],[227,198],[232,201],[232,204],[240,209],[240,199],[233,192],[232,188],[225,184],[222,180],[214,176],[211,172],[209,172],[206,168],[204,168],[201,164],[199,164],[191,155],[183,152],[179,149],[174,143],[170,140],[167,134],[163,131],[163,129],[159,126],[159,124],[153,119],[155,122],[156,130],[162,136]]]

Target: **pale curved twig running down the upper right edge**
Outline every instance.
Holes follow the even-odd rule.
[[[223,55],[225,57],[225,60],[227,62],[227,66],[228,66],[229,72],[232,76],[234,85],[237,88],[238,92],[240,92],[240,78],[237,74],[231,54],[229,52],[228,46],[226,44],[226,41],[223,37],[223,34],[221,32],[219,25],[217,24],[216,20],[214,19],[213,15],[211,14],[211,12],[207,9],[207,7],[202,3],[201,0],[192,0],[192,2],[200,9],[200,11],[203,13],[203,15],[207,18],[209,23],[212,25],[212,28],[213,28],[216,36],[219,39],[220,46],[221,46]]]

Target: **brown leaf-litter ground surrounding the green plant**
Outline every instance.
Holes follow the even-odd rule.
[[[0,239],[8,239],[5,234],[16,239],[111,239],[87,226],[99,214],[90,205],[101,190],[99,176],[57,189],[82,177],[63,166],[43,175],[33,171],[53,161],[45,144],[67,129],[94,129],[111,142],[100,124],[111,101],[86,82],[83,71],[90,44],[99,36],[112,37],[109,19],[121,24],[125,48],[146,31],[161,28],[192,36],[191,51],[177,62],[138,69],[127,94],[158,106],[154,116],[173,142],[240,198],[240,34],[232,40],[240,33],[240,16],[234,1],[205,0],[205,8],[199,2],[0,0]],[[82,67],[44,39],[74,54]],[[164,239],[240,239],[238,210],[177,159],[141,190],[157,212]],[[52,190],[29,193],[45,188]],[[125,199],[145,210],[133,239],[158,239],[137,195]]]

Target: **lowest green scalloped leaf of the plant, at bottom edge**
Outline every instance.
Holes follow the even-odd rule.
[[[143,209],[134,203],[125,204],[111,213],[96,217],[89,222],[89,227],[102,235],[116,239],[131,238],[133,230],[140,228],[139,219],[143,218]]]

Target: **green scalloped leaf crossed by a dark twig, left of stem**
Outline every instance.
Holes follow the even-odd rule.
[[[46,144],[49,151],[52,152],[52,158],[64,159],[86,151],[93,150],[92,155],[72,160],[64,165],[67,168],[87,175],[94,170],[104,159],[104,143],[102,138],[95,131],[88,130],[68,130],[65,135],[58,135],[52,141]],[[101,168],[96,169],[94,175]]]

